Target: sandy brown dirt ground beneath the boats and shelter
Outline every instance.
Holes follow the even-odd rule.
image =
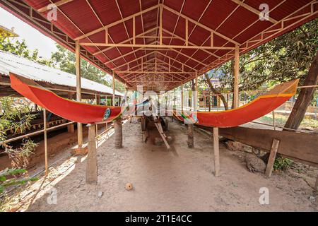
[[[170,121],[170,119],[169,119]],[[48,177],[21,188],[4,203],[11,211],[317,211],[313,193],[317,168],[293,167],[270,179],[247,170],[245,153],[220,144],[220,177],[214,177],[213,141],[194,132],[187,148],[187,127],[169,123],[172,150],[143,143],[141,125],[123,126],[124,148],[114,148],[113,131],[98,141],[98,184],[85,182],[86,157],[64,150]],[[57,156],[55,156],[57,157]],[[64,159],[63,159],[64,157]],[[54,158],[50,159],[54,162]],[[125,184],[134,189],[126,191]],[[261,188],[269,189],[269,204],[261,205]]]

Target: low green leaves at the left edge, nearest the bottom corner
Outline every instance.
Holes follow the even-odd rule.
[[[4,190],[8,186],[18,185],[18,184],[25,184],[27,182],[35,182],[37,178],[30,178],[30,177],[20,177],[16,178],[17,175],[25,175],[27,171],[25,169],[4,169],[0,171],[0,194],[4,192]],[[8,178],[9,177],[9,178]]]

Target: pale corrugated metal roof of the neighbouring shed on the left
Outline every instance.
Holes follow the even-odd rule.
[[[38,64],[35,61],[30,61],[15,54],[0,51],[0,73],[8,76],[9,72],[30,78],[33,81],[76,87],[76,76],[71,73],[54,69],[44,64]],[[112,94],[112,88],[86,78],[81,78],[81,86],[83,89]],[[115,95],[124,96],[118,91],[115,92]]]

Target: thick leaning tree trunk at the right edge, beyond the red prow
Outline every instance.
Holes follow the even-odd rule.
[[[305,83],[303,85],[317,85],[318,82],[318,52],[316,53],[316,57],[312,61],[312,65],[310,66],[310,70],[308,71],[308,75],[305,79]],[[285,124],[286,128],[289,129],[298,129],[302,119],[305,117],[305,113],[307,111],[307,107],[312,102],[312,98],[314,97],[315,88],[302,88],[298,95],[298,98],[295,102],[292,112],[288,117],[288,120]]]

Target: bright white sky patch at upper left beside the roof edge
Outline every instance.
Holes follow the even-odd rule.
[[[24,23],[22,20],[13,16],[1,7],[0,25],[9,29],[14,28],[14,32],[16,32],[19,37],[16,37],[13,40],[24,39],[30,50],[39,50],[39,57],[49,59],[51,58],[51,53],[57,51],[57,48],[55,47],[56,42],[54,42],[54,40],[51,40],[49,37],[43,35],[41,32],[32,28],[27,23]]]

